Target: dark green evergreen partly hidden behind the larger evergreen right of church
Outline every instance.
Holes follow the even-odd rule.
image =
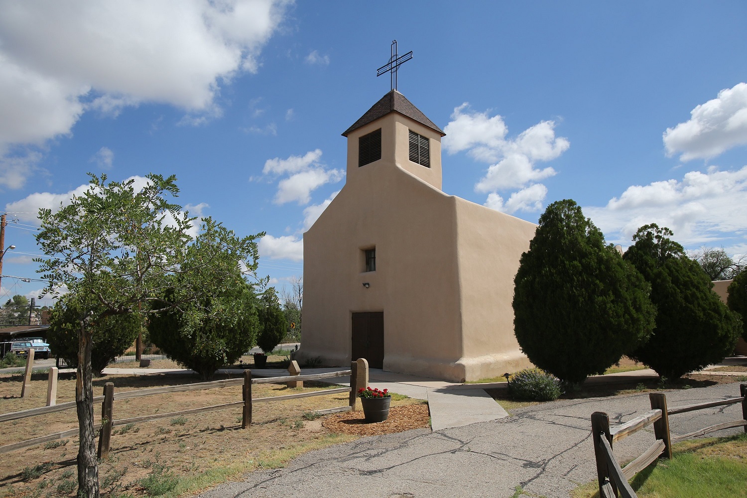
[[[740,320],[711,290],[713,284],[701,266],[671,236],[669,228],[642,226],[624,259],[651,284],[651,301],[657,307],[654,333],[630,357],[660,376],[678,379],[731,353]]]

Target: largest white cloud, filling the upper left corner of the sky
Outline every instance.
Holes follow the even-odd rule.
[[[159,102],[214,118],[221,85],[257,71],[290,3],[4,2],[0,155],[13,144],[40,146],[69,134],[87,110],[116,116],[125,106]]]

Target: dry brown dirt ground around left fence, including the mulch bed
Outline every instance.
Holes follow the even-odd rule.
[[[216,377],[218,378],[226,378]],[[194,375],[104,376],[95,379],[94,394],[105,382],[114,382],[115,393],[124,390],[200,382]],[[20,398],[22,376],[0,376],[0,413],[37,408],[46,403],[46,374],[32,376],[28,396]],[[306,387],[252,386],[252,397],[328,389],[306,382]],[[58,403],[75,399],[75,379],[61,376]],[[171,413],[241,400],[241,386],[193,390],[122,399],[114,402],[114,420],[147,414]],[[313,410],[348,404],[347,393],[280,402],[257,403],[252,426],[241,429],[241,406],[205,414],[167,417],[147,423],[117,426],[112,432],[110,457],[99,466],[102,494],[109,497],[146,496],[155,482],[179,481],[174,491],[193,494],[217,482],[256,468],[277,467],[300,453],[362,435],[399,432],[427,427],[427,405],[416,399],[392,401],[389,420],[364,424],[362,413],[348,412],[317,418]],[[99,408],[96,408],[98,415]],[[98,423],[98,416],[95,422]],[[75,410],[1,423],[2,444],[73,429]],[[371,426],[377,426],[372,429]],[[49,441],[0,454],[0,497],[73,497],[77,484],[77,438]]]

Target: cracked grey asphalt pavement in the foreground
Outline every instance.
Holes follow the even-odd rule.
[[[734,396],[738,384],[667,393],[670,407]],[[565,498],[596,476],[589,415],[606,411],[613,423],[622,423],[649,409],[648,394],[560,400],[492,422],[364,438],[307,453],[286,468],[251,473],[201,498],[512,497],[517,486]],[[672,416],[672,433],[742,417],[739,404],[696,413]],[[639,432],[616,444],[616,454],[633,458],[653,441],[651,431]]]

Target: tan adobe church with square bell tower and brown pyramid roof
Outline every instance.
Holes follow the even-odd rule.
[[[445,134],[397,90],[342,135],[346,184],[303,235],[297,360],[452,382],[530,367],[511,302],[536,225],[444,193]]]

